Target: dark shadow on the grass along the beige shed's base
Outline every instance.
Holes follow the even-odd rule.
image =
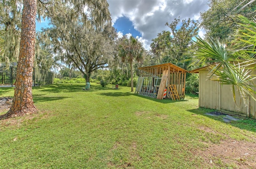
[[[194,114],[200,114],[202,116],[206,116],[213,120],[218,120],[223,123],[228,123],[231,126],[240,128],[242,130],[247,130],[247,131],[256,133],[256,120],[254,120],[254,119],[249,119],[249,118],[243,117],[243,118],[241,118],[241,120],[238,120],[238,121],[224,122],[222,118],[224,116],[226,116],[225,113],[223,113],[223,115],[220,115],[220,116],[210,116],[210,115],[206,114],[208,112],[214,112],[216,110],[212,110],[212,109],[208,109],[208,108],[196,108],[196,109],[192,109],[192,110],[188,110],[188,111],[192,112]],[[236,117],[236,116],[234,116],[234,117]]]

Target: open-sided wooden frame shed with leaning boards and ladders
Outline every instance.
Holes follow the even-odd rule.
[[[138,79],[135,93],[163,99],[166,92],[167,98],[173,98],[168,86],[174,85],[179,98],[185,97],[186,73],[188,73],[185,69],[172,63],[163,63],[139,67],[138,72],[140,78]]]

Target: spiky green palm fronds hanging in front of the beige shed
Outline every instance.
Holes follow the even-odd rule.
[[[235,49],[227,48],[218,39],[209,40],[196,37],[198,49],[194,53],[198,65],[209,65],[211,68],[210,79],[219,81],[222,85],[232,85],[234,102],[236,102],[235,86],[238,93],[245,100],[247,95],[254,98],[253,90],[255,75],[251,75],[250,68],[255,64],[256,20],[238,15],[241,27],[234,43]],[[192,63],[192,64],[195,64]],[[256,100],[254,98],[254,100]]]

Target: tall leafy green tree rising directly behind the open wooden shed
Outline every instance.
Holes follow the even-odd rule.
[[[188,63],[181,62],[188,59],[188,51],[193,47],[192,38],[198,34],[198,22],[191,19],[174,19],[166,26],[170,31],[158,33],[158,37],[152,39],[151,48],[156,57],[160,57],[161,63],[171,62],[184,69],[187,69]]]

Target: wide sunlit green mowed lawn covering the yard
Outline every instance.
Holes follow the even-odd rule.
[[[83,86],[34,87],[37,114],[0,120],[0,168],[236,168],[206,163],[200,152],[230,138],[256,140],[254,120],[206,116],[212,110],[198,108],[197,97],[156,100],[123,86]],[[0,88],[0,96],[13,90]]]

